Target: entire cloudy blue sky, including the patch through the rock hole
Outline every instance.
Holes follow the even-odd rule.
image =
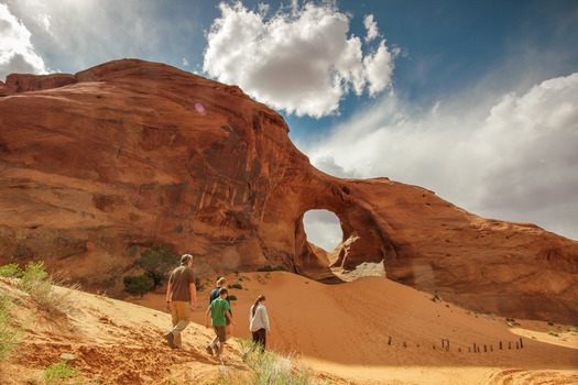
[[[574,0],[0,0],[0,79],[166,63],[274,108],[328,174],[578,240],[576,25]]]

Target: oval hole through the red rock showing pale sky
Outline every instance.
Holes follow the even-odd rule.
[[[329,210],[309,210],[303,216],[307,241],[331,252],[343,239],[339,218]]]

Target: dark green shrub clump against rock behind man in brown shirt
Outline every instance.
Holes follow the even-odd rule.
[[[163,286],[171,271],[178,265],[179,256],[165,246],[154,246],[142,252],[140,258],[134,261],[134,265],[141,267],[144,274],[153,279],[151,290]]]

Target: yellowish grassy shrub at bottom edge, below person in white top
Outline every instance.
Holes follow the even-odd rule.
[[[252,341],[238,339],[243,361],[253,371],[253,384],[305,385],[313,383],[313,373],[298,364],[293,354],[262,351]]]

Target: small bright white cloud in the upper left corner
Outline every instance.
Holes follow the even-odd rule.
[[[31,43],[31,32],[0,4],[0,79],[13,73],[46,74],[47,68]]]

